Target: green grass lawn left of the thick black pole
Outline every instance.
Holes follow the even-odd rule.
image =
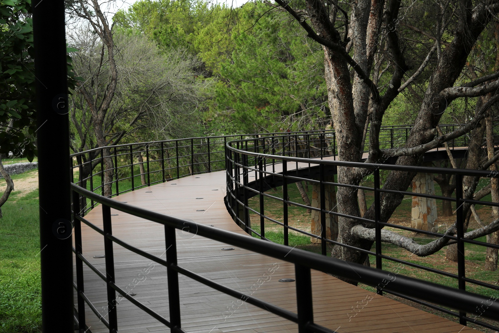
[[[0,333],[41,332],[38,191],[11,194],[1,209]]]

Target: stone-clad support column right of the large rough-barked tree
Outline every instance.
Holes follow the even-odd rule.
[[[412,181],[412,192],[434,195],[433,174],[418,172]],[[412,197],[411,228],[438,231],[437,202],[435,199]]]

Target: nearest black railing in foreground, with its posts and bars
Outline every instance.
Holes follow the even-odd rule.
[[[326,258],[324,256],[299,249],[295,249],[294,251],[290,252],[289,248],[283,245],[258,240],[253,237],[247,237],[225,230],[211,228],[178,217],[149,211],[147,209],[122,203],[95,194],[75,184],[71,184],[71,189],[73,191],[73,198],[76,199],[73,201],[73,204],[75,205],[77,205],[77,203],[79,202],[78,200],[79,195],[90,198],[93,201],[102,204],[104,226],[103,230],[100,229],[98,230],[98,232],[103,234],[106,240],[105,241],[106,273],[109,274],[106,274],[105,277],[103,275],[100,275],[100,277],[101,279],[106,280],[106,285],[108,290],[107,301],[108,304],[111,305],[111,307],[109,309],[110,313],[109,320],[105,324],[107,324],[106,326],[108,326],[111,332],[117,332],[115,331],[117,330],[117,318],[116,318],[116,307],[115,307],[116,292],[121,293],[121,295],[123,295],[133,304],[140,307],[142,310],[144,310],[145,312],[147,312],[148,314],[159,320],[161,323],[167,325],[169,328],[172,329],[173,332],[182,332],[182,333],[185,332],[184,330],[181,329],[180,312],[178,315],[179,317],[177,319],[173,318],[167,320],[162,316],[160,316],[159,314],[155,313],[152,309],[147,307],[147,305],[129,296],[125,290],[123,290],[114,283],[114,280],[110,278],[110,276],[111,277],[114,276],[114,274],[110,273],[114,271],[113,252],[112,252],[112,246],[110,246],[112,242],[115,242],[125,247],[126,249],[133,251],[134,253],[137,253],[147,259],[153,260],[167,268],[167,274],[168,274],[167,281],[168,281],[168,290],[170,295],[169,303],[171,307],[170,308],[171,312],[175,312],[172,309],[172,307],[179,307],[180,304],[180,299],[178,294],[179,290],[178,274],[180,273],[194,280],[197,280],[198,282],[201,282],[211,288],[215,288],[228,295],[238,297],[245,302],[260,307],[261,309],[268,310],[287,320],[293,321],[298,324],[298,331],[300,333],[333,332],[327,328],[324,328],[322,326],[313,323],[313,312],[310,310],[312,306],[310,269],[318,270],[327,274],[341,276],[343,278],[361,282],[372,287],[379,286],[379,284],[381,284],[382,281],[389,281],[390,283],[387,284],[383,288],[383,290],[393,293],[404,293],[409,297],[419,298],[426,302],[437,303],[442,306],[446,306],[463,312],[469,312],[469,313],[474,312],[476,310],[475,308],[477,307],[477,305],[489,301],[488,298],[481,295],[476,295],[461,290],[455,290],[453,288],[444,287],[434,283],[429,283],[405,277],[402,275],[397,275],[390,272],[369,268],[363,265],[346,263],[345,261],[338,260],[335,258]],[[113,236],[112,227],[111,227],[111,210],[110,210],[111,208],[164,225],[165,238],[167,240],[166,245],[167,246],[170,245],[169,249],[170,248],[172,249],[172,251],[167,251],[167,259],[163,260],[157,256],[151,255]],[[75,217],[75,231],[81,232],[80,222],[87,223],[88,221],[86,221],[83,217],[81,217],[77,212],[73,213]],[[97,227],[93,226],[93,228]],[[181,229],[184,231],[188,231],[190,233],[195,232],[197,235],[202,237],[238,246],[250,251],[254,251],[266,256],[270,256],[294,264],[297,273],[296,274],[297,297],[302,301],[305,300],[307,302],[305,303],[297,302],[298,313],[294,314],[278,306],[266,303],[257,298],[241,293],[237,290],[215,283],[209,279],[204,278],[199,274],[196,274],[192,271],[182,268],[177,264],[176,260],[177,248],[175,242],[175,237],[176,237],[175,229]],[[79,241],[81,242],[81,238],[79,239]],[[77,250],[78,246],[81,246],[81,243],[76,244],[76,249],[74,249],[77,258],[79,259],[77,260],[77,274],[81,275],[78,277],[79,279],[83,279],[82,276],[83,256],[81,251]],[[86,261],[85,264],[91,266],[91,264],[88,261]],[[172,291],[175,290],[177,292],[172,293]],[[81,302],[89,302],[88,298],[86,298],[85,293],[83,291],[78,291],[78,298],[79,300],[81,300]],[[303,316],[306,317],[303,318]],[[483,316],[490,319],[499,320],[499,304],[493,303],[490,306],[490,311],[486,311],[483,314]],[[84,317],[80,318],[81,318],[80,323],[84,325],[85,323]]]

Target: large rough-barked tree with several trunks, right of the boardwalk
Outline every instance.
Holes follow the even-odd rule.
[[[360,162],[362,134],[369,123],[367,162],[397,157],[397,165],[420,165],[426,151],[479,127],[499,98],[497,71],[491,71],[489,66],[466,66],[473,59],[473,52],[486,53],[484,45],[490,45],[486,41],[498,19],[497,0],[305,0],[304,9],[293,1],[275,0],[275,4],[268,4],[287,11],[308,37],[323,47],[328,102],[340,160]],[[419,81],[422,73],[428,76],[426,82]],[[404,147],[381,149],[383,115],[395,98],[407,90],[419,94],[420,99],[414,110],[414,127]],[[454,132],[438,135],[436,126],[449,104],[461,98],[480,100],[473,118]],[[497,157],[496,153],[482,168],[488,168]],[[365,169],[338,167],[338,182],[358,185],[367,174]],[[410,172],[390,172],[383,188],[405,191],[413,177]],[[465,196],[473,197],[476,181],[466,179],[465,184]],[[356,192],[338,188],[339,213],[360,216]],[[381,195],[382,222],[388,221],[402,199],[401,194]],[[374,207],[363,217],[374,220]],[[374,241],[373,228],[371,223],[340,217],[338,241],[369,250]],[[476,238],[498,229],[499,221],[495,220],[465,237]],[[454,224],[446,234],[455,232]],[[381,237],[382,241],[418,256],[428,256],[450,243],[442,238],[419,245],[387,230],[382,230]],[[333,248],[332,255],[356,263],[366,259],[365,254],[340,246]]]

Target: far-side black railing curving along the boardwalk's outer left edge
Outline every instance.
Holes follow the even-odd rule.
[[[462,125],[441,125],[444,133],[454,131]],[[412,126],[382,126],[380,147],[403,146]],[[282,135],[285,134],[285,135]],[[286,133],[239,134],[213,137],[195,137],[99,147],[71,154],[72,179],[75,184],[95,193],[104,193],[109,188],[113,197],[129,191],[161,182],[226,169],[225,145],[231,140],[266,137],[263,152],[294,157],[323,158],[337,155],[334,130]],[[364,152],[368,152],[369,132],[366,135]],[[246,144],[250,144],[246,143]],[[466,136],[452,140],[451,149],[466,147]],[[104,149],[109,151],[113,167],[106,169]],[[437,150],[442,150],[442,147]],[[272,161],[272,163],[274,163]],[[112,181],[104,183],[104,174],[109,172]],[[83,199],[82,199],[83,200]],[[93,200],[80,203],[84,212],[94,207]]]

